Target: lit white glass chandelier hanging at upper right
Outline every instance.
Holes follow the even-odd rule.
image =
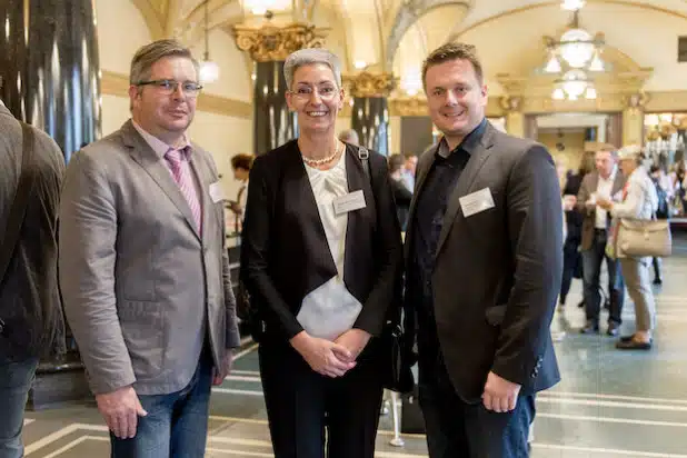
[[[596,89],[587,72],[606,70],[601,60],[604,37],[591,36],[579,26],[579,10],[585,0],[562,0],[561,8],[572,11],[572,21],[559,40],[547,39],[548,61],[545,73],[562,73],[556,81],[552,98],[556,100],[577,100],[580,97],[596,99]]]

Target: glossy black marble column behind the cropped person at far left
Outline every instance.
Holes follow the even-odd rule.
[[[50,135],[69,160],[100,137],[98,32],[92,0],[0,2],[1,97]]]

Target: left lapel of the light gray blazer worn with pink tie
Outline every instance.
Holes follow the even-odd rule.
[[[177,209],[183,215],[186,222],[193,230],[193,233],[200,240],[200,233],[193,221],[193,213],[186,201],[186,198],[179,189],[179,185],[175,181],[169,169],[165,165],[165,159],[160,158],[146,140],[138,133],[131,120],[128,120],[121,128],[122,141],[135,161],[137,161],[143,170],[152,178],[152,180],[162,189],[165,195],[172,201]]]

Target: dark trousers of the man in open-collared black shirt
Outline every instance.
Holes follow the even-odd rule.
[[[465,402],[446,367],[420,359],[419,398],[430,458],[527,458],[535,397],[520,396],[515,410],[496,414]]]

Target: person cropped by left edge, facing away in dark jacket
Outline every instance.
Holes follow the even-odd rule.
[[[33,152],[26,171],[33,175],[34,182],[23,218],[11,218],[27,150],[21,125],[0,100],[0,251],[11,255],[4,275],[0,271],[2,458],[23,456],[23,411],[39,358],[64,352],[57,282],[57,212],[64,159],[46,132],[30,129]],[[10,237],[10,232],[17,236]]]

